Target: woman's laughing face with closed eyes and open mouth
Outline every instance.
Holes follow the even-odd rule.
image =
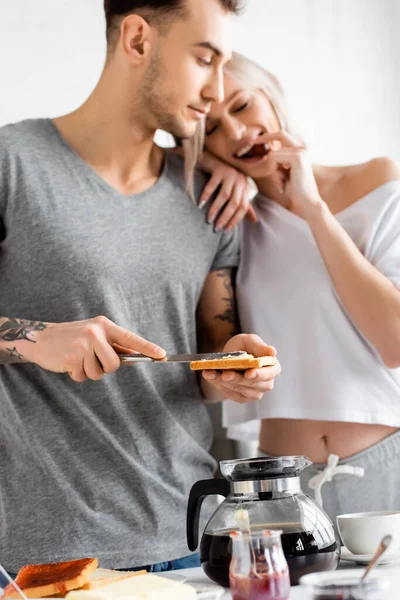
[[[257,138],[280,129],[276,113],[261,90],[245,89],[228,75],[224,88],[223,102],[212,104],[206,120],[206,150],[254,179],[265,177],[268,152]]]

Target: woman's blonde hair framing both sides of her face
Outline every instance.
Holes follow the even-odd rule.
[[[277,77],[250,58],[234,52],[225,67],[225,73],[248,90],[261,90],[275,111],[281,129],[301,140],[291,120],[283,87]],[[186,190],[194,199],[194,171],[204,148],[204,122],[197,128],[195,136],[183,142],[185,152]]]

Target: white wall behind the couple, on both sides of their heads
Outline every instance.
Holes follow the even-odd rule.
[[[104,59],[102,0],[0,0],[0,125],[75,108]],[[400,159],[398,0],[248,0],[235,48],[282,79],[314,157]]]

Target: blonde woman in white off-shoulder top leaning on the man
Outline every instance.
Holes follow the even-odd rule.
[[[400,509],[398,167],[387,158],[312,164],[279,82],[237,54],[225,99],[208,115],[205,149],[203,166],[220,179],[223,161],[258,188],[258,222],[241,226],[239,314],[282,365],[268,396],[225,403],[231,437],[258,436],[261,454],[309,456],[303,489],[310,483],[321,501],[330,481],[322,499],[332,520]],[[231,228],[243,212],[236,198],[216,224]]]

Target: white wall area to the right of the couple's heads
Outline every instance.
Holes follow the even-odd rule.
[[[400,2],[248,0],[237,50],[275,72],[313,154],[400,159]]]

